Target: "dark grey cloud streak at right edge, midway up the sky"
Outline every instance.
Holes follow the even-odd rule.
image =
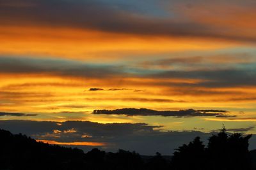
[[[255,69],[216,69],[216,70],[192,70],[192,71],[161,71],[148,75],[154,78],[187,78],[201,80],[197,83],[176,83],[179,87],[237,87],[255,86]],[[159,83],[160,84],[160,83]],[[170,85],[173,83],[170,83]],[[168,85],[166,83],[166,85]],[[175,85],[175,84],[174,84]]]

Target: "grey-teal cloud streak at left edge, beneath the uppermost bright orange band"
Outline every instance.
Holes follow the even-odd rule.
[[[0,73],[44,73],[91,78],[104,78],[117,76],[118,74],[124,75],[122,69],[113,66],[98,66],[97,64],[86,64],[74,60],[21,57],[0,57]]]

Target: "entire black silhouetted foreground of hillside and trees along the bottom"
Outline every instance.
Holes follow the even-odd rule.
[[[256,150],[248,151],[250,138],[222,129],[209,138],[207,146],[196,137],[177,148],[172,157],[161,153],[150,157],[125,150],[106,153],[97,148],[84,153],[0,130],[0,169],[256,169]]]

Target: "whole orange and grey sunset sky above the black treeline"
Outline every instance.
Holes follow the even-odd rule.
[[[145,155],[171,155],[223,125],[256,134],[255,8],[0,0],[0,128]]]

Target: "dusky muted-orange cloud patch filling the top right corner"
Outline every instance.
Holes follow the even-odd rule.
[[[236,37],[255,42],[256,24],[253,20],[256,11],[255,4],[250,1],[197,1],[177,3],[175,8],[171,10],[214,30],[216,38]]]

